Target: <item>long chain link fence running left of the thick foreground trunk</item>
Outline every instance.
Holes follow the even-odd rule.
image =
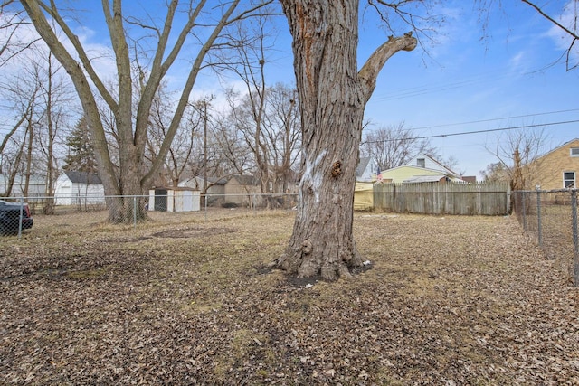
[[[264,211],[289,212],[297,198],[297,194],[289,193],[200,194],[188,190],[131,196],[5,198],[0,200],[0,237],[90,230],[101,224],[137,228],[149,220],[162,225]]]

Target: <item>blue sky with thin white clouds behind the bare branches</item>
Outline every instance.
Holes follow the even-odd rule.
[[[497,161],[487,148],[494,147],[498,136],[508,135],[509,130],[455,134],[536,126],[544,130],[551,148],[579,137],[579,122],[556,124],[579,120],[579,69],[565,71],[564,61],[554,64],[566,45],[553,24],[519,0],[503,0],[501,8],[497,1],[490,2],[496,8],[490,9],[489,24],[483,30],[481,14],[473,9],[473,2],[442,3],[437,11],[445,14],[447,23],[434,36],[436,42],[426,43],[426,51],[419,46],[413,52],[398,52],[384,66],[366,106],[365,119],[371,122],[367,130],[403,122],[417,137],[433,136],[432,146],[438,149],[441,160],[452,156],[458,162],[455,169],[465,175],[477,175]],[[567,3],[569,0],[548,2],[546,11],[557,16]],[[74,4],[96,7],[79,14],[84,27],[77,27],[76,33],[92,52],[108,50],[104,45],[107,33],[101,30],[100,2]],[[126,4],[126,13],[155,5]],[[276,27],[275,51],[266,59],[267,81],[293,84],[291,39],[283,16],[276,19]],[[400,33],[407,30],[403,28]],[[365,14],[360,25],[360,66],[389,34],[374,14]],[[575,53],[572,60],[576,63],[579,53]],[[100,60],[100,69],[114,68],[107,55]],[[219,94],[214,73],[205,71],[202,75],[194,98]],[[214,101],[218,103],[219,96]]]

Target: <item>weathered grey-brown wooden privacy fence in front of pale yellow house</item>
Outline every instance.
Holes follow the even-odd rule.
[[[508,214],[509,202],[507,182],[374,185],[374,208],[384,212],[496,216]]]

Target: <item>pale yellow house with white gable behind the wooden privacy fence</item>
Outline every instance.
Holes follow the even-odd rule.
[[[391,184],[463,182],[459,174],[423,153],[405,165],[380,172],[378,181]]]

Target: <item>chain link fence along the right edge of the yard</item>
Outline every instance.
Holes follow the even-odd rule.
[[[514,191],[513,210],[525,232],[579,287],[577,189]]]

